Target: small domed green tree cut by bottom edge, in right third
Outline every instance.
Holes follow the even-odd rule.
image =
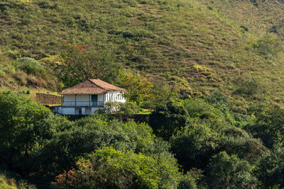
[[[256,188],[249,162],[225,151],[213,156],[205,172],[209,188]]]

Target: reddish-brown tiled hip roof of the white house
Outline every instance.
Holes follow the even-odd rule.
[[[124,88],[108,84],[101,79],[88,79],[80,84],[65,88],[59,94],[102,94],[108,91],[126,91]]]

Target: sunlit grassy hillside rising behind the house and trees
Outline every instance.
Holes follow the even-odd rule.
[[[13,62],[32,57],[52,69],[67,42],[190,95],[222,91],[239,111],[284,102],[280,1],[6,0],[0,10],[2,88],[58,90],[52,74],[38,80]]]

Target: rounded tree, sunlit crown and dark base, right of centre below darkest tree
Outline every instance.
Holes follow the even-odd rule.
[[[204,168],[216,153],[219,133],[207,125],[191,125],[170,139],[171,150],[185,171]]]

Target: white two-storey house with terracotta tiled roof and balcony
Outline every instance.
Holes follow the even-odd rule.
[[[108,84],[100,79],[89,79],[61,91],[61,106],[54,112],[63,115],[88,115],[98,108],[104,108],[107,101],[125,103],[124,88]]]

